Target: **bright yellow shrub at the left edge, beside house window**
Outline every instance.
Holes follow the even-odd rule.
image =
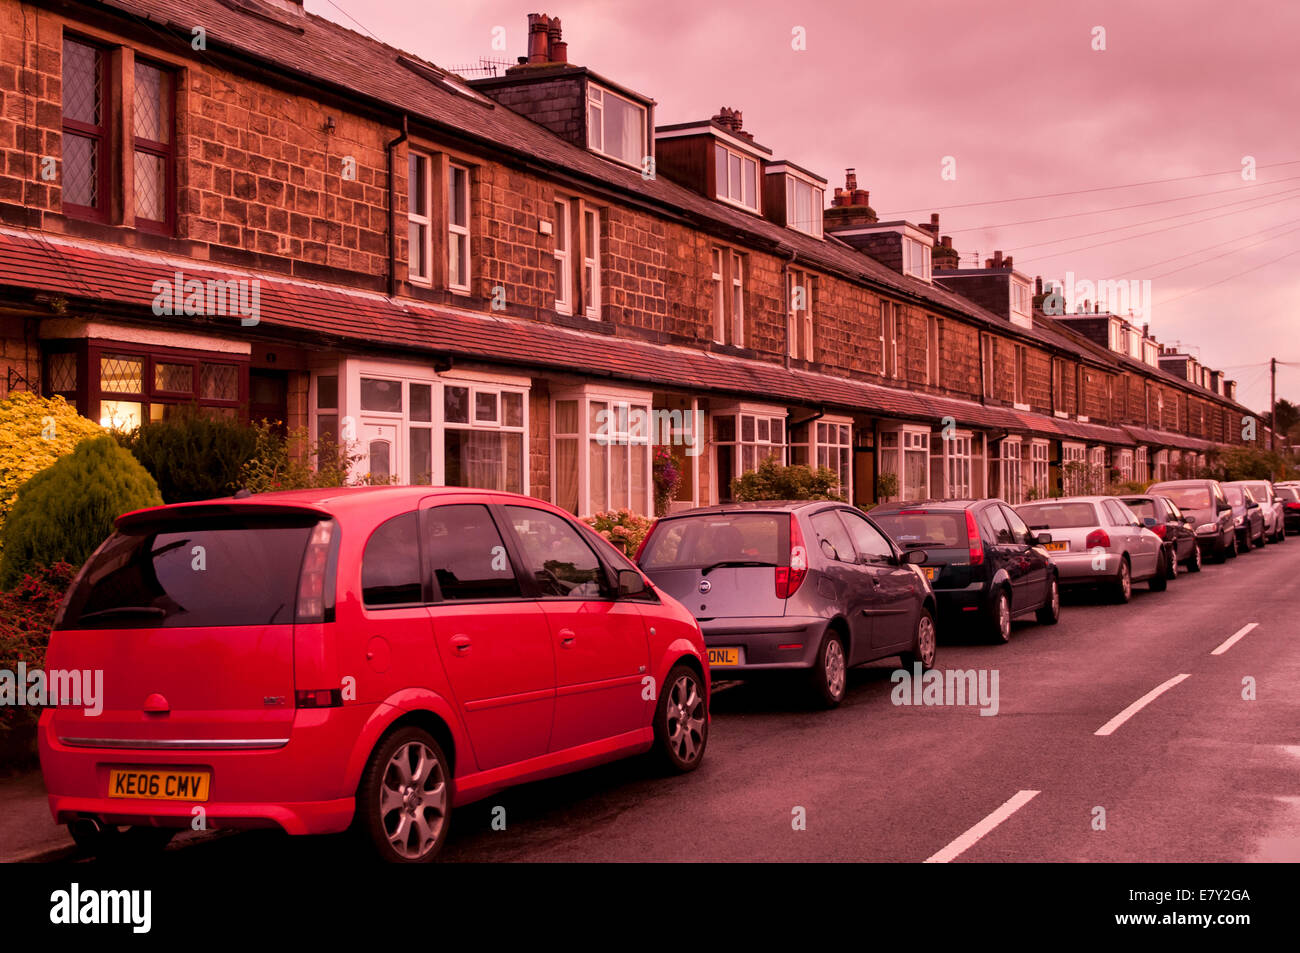
[[[0,400],[0,529],[20,486],[70,454],[81,439],[100,433],[104,428],[61,397],[18,391]]]

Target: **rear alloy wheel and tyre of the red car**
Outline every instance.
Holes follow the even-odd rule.
[[[451,764],[424,728],[380,740],[361,772],[354,831],[389,863],[428,863],[447,840]]]

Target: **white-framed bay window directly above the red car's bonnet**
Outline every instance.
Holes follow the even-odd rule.
[[[577,419],[578,429],[577,434],[559,433],[558,430],[558,406],[562,400],[576,400],[577,402]],[[607,415],[604,417],[604,426],[593,428],[592,426],[592,406],[601,404],[606,410]],[[628,426],[621,428],[621,417],[619,408],[625,408]],[[634,411],[644,411],[645,416],[640,417],[640,424]],[[603,387],[599,385],[584,385],[580,387],[572,387],[568,390],[559,390],[551,395],[551,502],[556,506],[562,506],[558,497],[558,488],[555,485],[554,473],[556,471],[556,441],[558,439],[573,439],[576,437],[577,442],[577,516],[590,516],[597,512],[595,503],[593,502],[592,493],[592,454],[594,449],[604,450],[604,506],[603,510],[618,510],[621,506],[627,506],[636,514],[642,516],[654,515],[654,478],[653,478],[653,465],[654,465],[654,449],[651,445],[654,429],[654,395],[649,390],[630,390],[630,389],[618,389],[618,387]],[[612,425],[610,425],[612,421]],[[633,426],[633,424],[638,424]],[[633,446],[645,447],[645,463],[641,468],[641,499],[636,499],[636,486],[634,486],[634,471],[636,464],[633,463],[634,454],[632,452]],[[628,495],[627,501],[615,501],[614,495],[614,467],[615,449],[628,447],[627,452],[627,486]]]

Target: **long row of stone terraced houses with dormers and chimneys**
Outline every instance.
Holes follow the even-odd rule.
[[[577,514],[650,512],[656,445],[675,506],[768,456],[857,503],[1019,502],[1249,437],[1222,373],[1045,315],[741,112],[656,126],[558,18],[484,78],[296,0],[0,0],[0,398],[196,402]]]

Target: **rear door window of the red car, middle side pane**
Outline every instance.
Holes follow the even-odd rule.
[[[506,543],[481,503],[424,511],[424,551],[443,599],[517,599],[523,595]]]

